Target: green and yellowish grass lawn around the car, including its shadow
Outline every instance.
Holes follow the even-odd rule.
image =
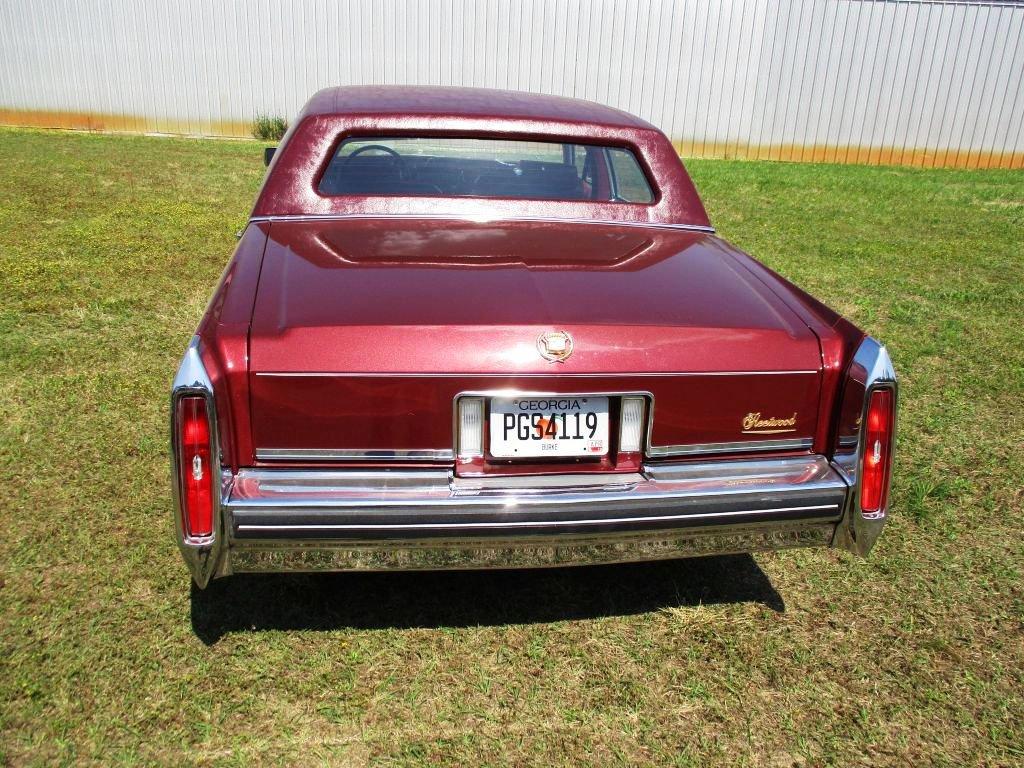
[[[199,593],[167,393],[261,145],[0,130],[0,764],[1024,762],[1024,172],[690,170],[725,237],[890,346],[869,560]]]

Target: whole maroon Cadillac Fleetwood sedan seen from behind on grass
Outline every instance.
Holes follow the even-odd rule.
[[[333,88],[273,154],[174,380],[177,541],[201,587],[864,555],[895,410],[885,348],[716,237],[648,123]]]

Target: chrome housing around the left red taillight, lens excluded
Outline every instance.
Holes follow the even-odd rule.
[[[182,519],[180,488],[178,487],[178,434],[175,412],[178,399],[185,395],[201,395],[206,398],[207,414],[210,419],[210,456],[214,467],[221,466],[220,440],[217,436],[217,408],[213,397],[213,383],[200,356],[200,338],[194,336],[188,343],[181,365],[171,384],[171,494],[174,509],[174,538],[181,554],[191,571],[193,579],[200,587],[206,587],[217,570],[223,550],[224,530],[222,527],[221,499],[214,499],[213,535],[189,537]],[[227,493],[229,479],[221,478],[221,490]],[[216,495],[214,495],[216,496]]]

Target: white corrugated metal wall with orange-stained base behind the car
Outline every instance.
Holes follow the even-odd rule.
[[[1019,168],[1022,37],[1021,2],[4,0],[0,123],[241,136],[326,85],[477,85],[687,156]]]

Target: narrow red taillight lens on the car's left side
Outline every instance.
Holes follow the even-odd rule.
[[[178,485],[185,532],[213,534],[213,468],[210,466],[210,418],[206,398],[182,397],[175,415],[178,428]]]

